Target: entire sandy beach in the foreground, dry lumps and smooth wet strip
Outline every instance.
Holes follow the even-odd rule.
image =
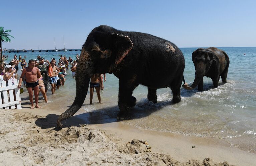
[[[24,103],[22,110],[0,112],[1,165],[256,164],[254,153],[220,139],[140,130],[122,122],[87,125],[73,116],[58,130],[57,108],[29,109]]]

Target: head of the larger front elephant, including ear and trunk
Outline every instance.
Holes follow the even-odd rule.
[[[77,64],[75,100],[71,107],[59,116],[59,128],[62,127],[63,120],[73,116],[82,106],[91,76],[95,73],[113,73],[132,48],[133,43],[128,36],[113,33],[101,26],[92,30],[82,46]]]

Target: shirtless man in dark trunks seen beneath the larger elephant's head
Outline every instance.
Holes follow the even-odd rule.
[[[100,87],[101,87],[101,89],[104,89],[104,86],[102,85],[102,80],[101,80],[100,74],[93,74],[93,76],[91,77],[91,82],[90,82],[90,104],[92,104],[94,88],[96,89],[99,103],[101,103]]]

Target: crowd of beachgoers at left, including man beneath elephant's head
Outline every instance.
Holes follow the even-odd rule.
[[[17,79],[19,63],[21,66],[21,75],[19,78],[18,88],[21,88],[22,82],[24,87],[27,88],[29,94],[29,100],[31,102],[31,109],[34,107],[41,108],[38,105],[38,95],[41,92],[45,102],[48,102],[47,91],[51,86],[51,93],[54,94],[56,89],[59,89],[60,86],[64,86],[67,75],[67,70],[69,69],[69,63],[71,64],[70,70],[72,72],[72,77],[75,77],[76,66],[79,61],[80,56],[76,55],[76,60],[73,60],[71,57],[68,59],[66,56],[59,55],[60,58],[56,62],[55,58],[51,58],[51,61],[46,60],[40,55],[37,56],[37,59],[31,59],[28,61],[28,64],[25,60],[25,57],[22,59],[21,55],[17,59],[16,54],[10,63],[1,63],[0,64],[0,83],[1,81],[12,80],[14,85],[14,79]],[[5,57],[6,58],[6,57]],[[105,74],[93,74],[90,82],[90,104],[92,104],[94,88],[96,89],[97,97],[99,103],[101,103],[100,90],[104,89],[103,85],[103,76],[104,81],[106,81]],[[8,85],[7,85],[8,86]],[[1,84],[0,84],[1,87]],[[33,94],[35,97],[35,106],[33,103]],[[1,95],[3,96],[3,95]]]

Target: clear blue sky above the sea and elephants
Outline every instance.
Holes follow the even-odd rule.
[[[81,48],[94,27],[149,33],[178,47],[256,46],[256,1],[4,0],[1,24],[13,49]]]

